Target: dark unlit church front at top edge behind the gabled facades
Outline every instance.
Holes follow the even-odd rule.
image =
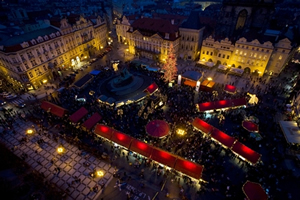
[[[216,34],[232,38],[249,29],[264,31],[274,10],[274,0],[223,0]]]

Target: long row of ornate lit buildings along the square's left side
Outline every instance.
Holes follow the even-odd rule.
[[[0,73],[13,86],[37,89],[51,81],[57,70],[75,68],[106,46],[106,22],[99,16],[73,15],[50,23],[0,43]]]

